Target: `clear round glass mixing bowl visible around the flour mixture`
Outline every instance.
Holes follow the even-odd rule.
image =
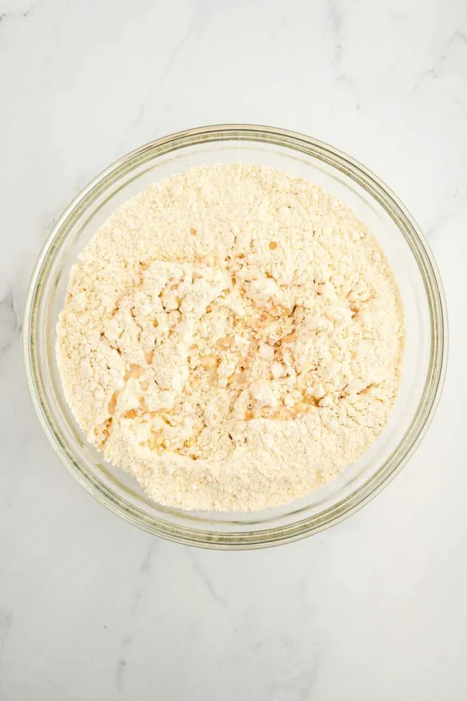
[[[356,463],[308,496],[258,512],[186,512],[151,501],[135,479],[87,444],[65,402],[55,324],[69,271],[116,207],[151,182],[194,165],[255,163],[302,176],[349,205],[379,241],[405,306],[407,341],[391,419]],[[327,144],[282,129],[216,125],[157,139],[90,182],[53,227],[32,273],[24,324],[25,368],[43,429],[62,463],[100,503],[130,523],[179,543],[252,548],[287,543],[335,524],[375,496],[417,448],[440,397],[447,315],[438,269],[421,231],[386,185]]]

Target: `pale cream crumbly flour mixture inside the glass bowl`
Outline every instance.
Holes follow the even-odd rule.
[[[70,275],[65,397],[161,504],[255,510],[365,451],[398,392],[400,296],[339,200],[255,165],[194,168],[119,207]]]

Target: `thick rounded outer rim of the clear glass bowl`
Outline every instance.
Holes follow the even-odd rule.
[[[60,436],[60,430],[57,430],[48,411],[48,400],[41,380],[36,343],[41,291],[47,279],[48,265],[60,250],[62,240],[66,238],[67,231],[63,233],[65,226],[69,227],[70,222],[79,219],[88,205],[109,185],[149,159],[191,145],[234,140],[269,143],[313,156],[327,165],[332,165],[363,186],[367,193],[388,212],[410,245],[424,278],[431,316],[431,355],[426,383],[417,412],[405,434],[405,438],[410,434],[411,440],[402,440],[391,459],[386,461],[370,479],[327,510],[290,524],[250,532],[196,529],[170,523],[162,517],[149,517],[135,505],[129,504],[115,494],[107,484],[100,482],[89,472],[83,472],[74,461],[74,456],[69,453]],[[343,151],[313,137],[270,126],[233,123],[184,130],[144,144],[109,165],[73,198],[50,230],[34,266],[25,301],[22,350],[27,386],[41,426],[60,461],[97,501],[140,529],[166,540],[213,549],[247,550],[289,543],[323,531],[358,511],[391,482],[419,446],[438,407],[447,367],[447,336],[445,294],[431,249],[405,205],[377,175]]]

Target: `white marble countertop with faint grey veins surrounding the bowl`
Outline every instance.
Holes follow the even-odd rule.
[[[467,696],[465,0],[0,0],[1,701],[458,701]],[[208,552],[93,501],[29,402],[22,306],[74,194],[206,123],[309,133],[428,235],[450,359],[423,444],[346,522]]]

